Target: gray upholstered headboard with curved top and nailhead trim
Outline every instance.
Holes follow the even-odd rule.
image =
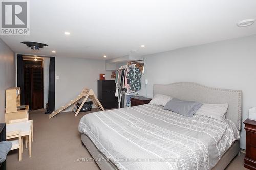
[[[212,88],[192,82],[177,82],[154,85],[154,95],[165,94],[182,100],[202,103],[228,103],[226,118],[232,120],[241,130],[242,91]]]

